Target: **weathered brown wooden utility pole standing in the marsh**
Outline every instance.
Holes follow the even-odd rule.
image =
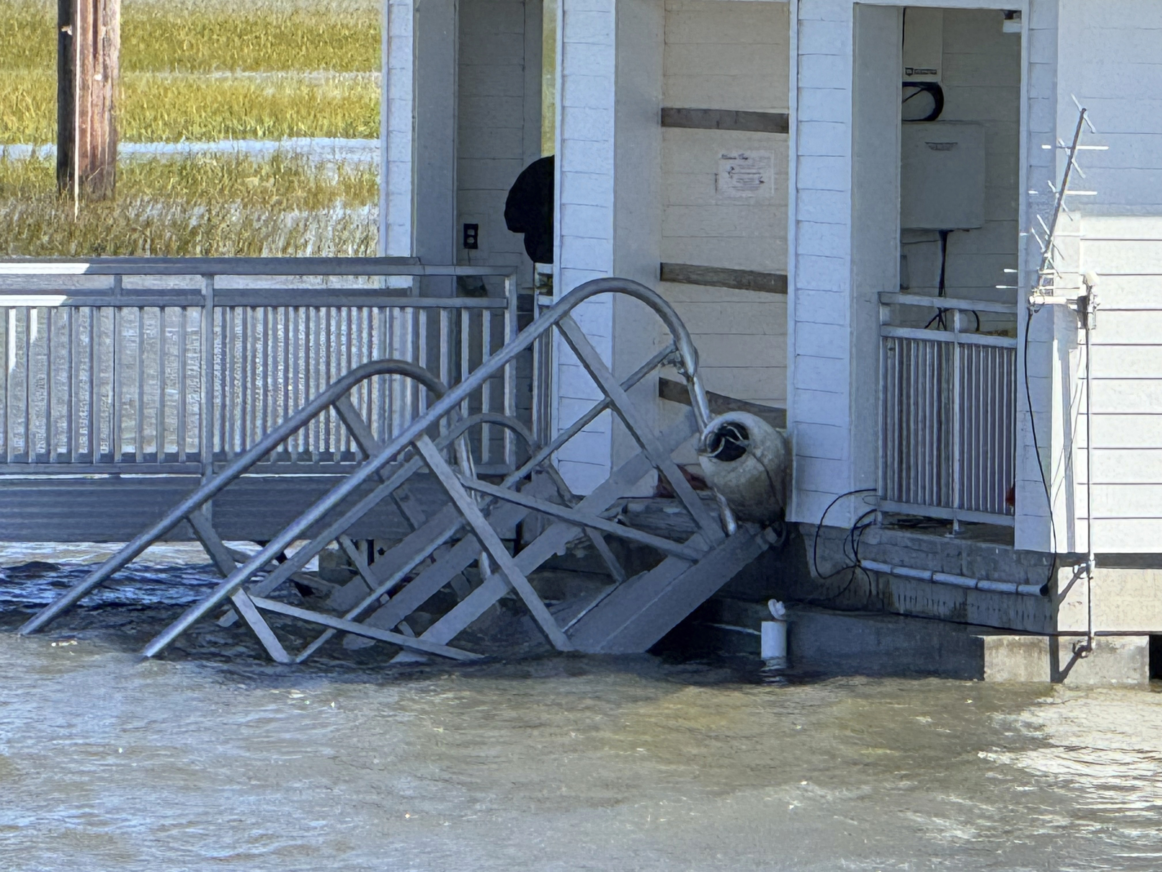
[[[57,187],[79,203],[113,194],[121,0],[57,0]]]

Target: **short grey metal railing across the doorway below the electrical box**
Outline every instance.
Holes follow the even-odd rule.
[[[882,293],[880,509],[1012,526],[1016,484],[1016,336],[966,330],[976,313],[1017,306]],[[928,327],[890,323],[891,307],[924,310]],[[949,329],[931,329],[947,316]]]

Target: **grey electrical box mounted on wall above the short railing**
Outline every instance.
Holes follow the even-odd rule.
[[[899,226],[970,230],[984,226],[984,126],[917,121],[901,140]]]

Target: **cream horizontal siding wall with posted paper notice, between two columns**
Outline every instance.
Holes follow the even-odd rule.
[[[774,130],[780,117],[786,121],[788,36],[787,3],[666,0],[664,103],[723,112],[713,113],[718,121],[708,124],[719,129],[696,129],[688,120],[689,128],[662,130],[664,262],[786,272],[787,136],[729,128],[754,127],[762,119]],[[736,112],[746,123],[723,121]],[[774,153],[773,195],[719,196],[719,156],[760,150]],[[767,286],[774,287],[772,280]],[[661,291],[694,335],[706,389],[769,406],[786,403],[786,296],[665,280]]]

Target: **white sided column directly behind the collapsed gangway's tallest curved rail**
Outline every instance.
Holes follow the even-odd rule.
[[[662,0],[561,0],[558,29],[555,284],[564,294],[605,276],[657,287],[661,262]],[[618,377],[662,343],[646,306],[607,295],[574,317]],[[602,394],[567,348],[557,366],[557,423],[567,427]],[[658,384],[631,392],[654,424]],[[588,493],[638,450],[609,413],[561,452],[569,486]],[[651,492],[653,477],[634,493]],[[629,494],[626,494],[629,495]]]

